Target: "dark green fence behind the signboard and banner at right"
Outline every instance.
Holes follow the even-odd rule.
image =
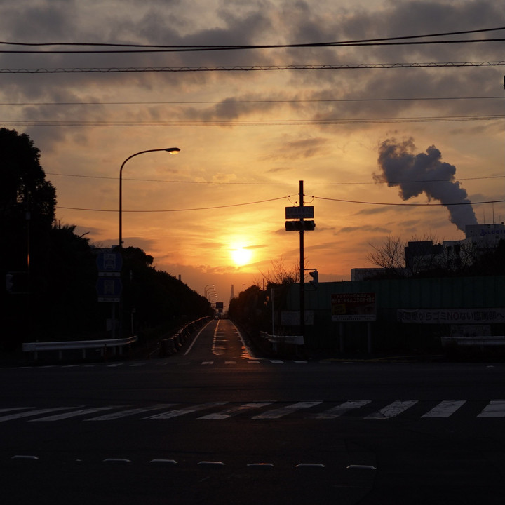
[[[377,318],[370,323],[373,349],[440,349],[440,337],[450,324],[405,324],[398,322],[398,309],[492,309],[505,307],[505,276],[388,279],[309,284],[305,309],[313,311],[314,325],[305,328],[305,341],[313,349],[368,350],[369,325],[365,322],[332,322],[331,295],[375,292]],[[299,310],[299,285],[292,285],[286,309]],[[292,328],[297,331],[297,328]],[[505,334],[505,323],[492,325],[493,335]]]

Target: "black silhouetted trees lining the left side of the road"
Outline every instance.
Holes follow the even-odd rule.
[[[99,250],[75,226],[55,223],[56,191],[28,135],[0,128],[0,345],[43,339],[107,338],[112,304],[98,302]],[[152,267],[138,248],[123,249],[123,336],[132,330],[211,315],[189,286]],[[108,336],[107,336],[108,335]]]

